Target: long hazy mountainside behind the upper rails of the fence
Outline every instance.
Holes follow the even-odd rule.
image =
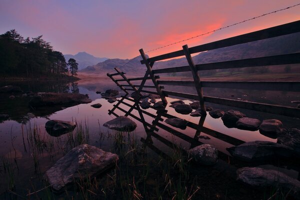
[[[262,57],[270,55],[278,55],[285,53],[300,52],[300,33],[293,33],[269,39],[263,39],[253,42],[247,42],[238,45],[217,48],[204,51],[194,55],[193,61],[195,64],[218,62],[234,59],[244,59],[252,57]],[[134,74],[143,74],[146,70],[144,64],[140,64],[141,56],[133,59],[128,64],[125,64],[129,59],[107,59],[93,66],[82,69],[82,71],[93,73],[107,73],[112,71],[114,67],[120,67],[123,72],[131,72]],[[124,65],[125,64],[125,65]],[[123,66],[124,65],[124,66]],[[153,65],[153,69],[168,68],[174,66],[188,65],[186,59],[177,58],[167,61],[157,61]],[[233,70],[233,69],[226,69]],[[190,72],[187,72],[190,74]]]

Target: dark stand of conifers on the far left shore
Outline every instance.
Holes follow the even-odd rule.
[[[1,76],[37,78],[63,76],[68,71],[73,76],[77,69],[76,60],[70,58],[67,63],[63,54],[53,50],[42,35],[24,39],[15,29],[0,35]]]

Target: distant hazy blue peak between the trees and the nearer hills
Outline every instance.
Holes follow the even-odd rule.
[[[102,62],[108,59],[107,57],[95,57],[91,54],[88,54],[87,52],[78,52],[75,55],[65,54],[64,58],[66,62],[69,58],[74,58],[78,63],[78,70],[83,69],[86,66],[92,66],[98,62]]]

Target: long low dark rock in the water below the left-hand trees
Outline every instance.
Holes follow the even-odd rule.
[[[53,93],[39,92],[29,101],[29,106],[40,107],[59,104],[77,105],[80,103],[90,103],[91,99],[79,93]]]

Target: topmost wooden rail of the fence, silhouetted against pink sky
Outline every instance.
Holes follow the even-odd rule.
[[[299,32],[299,31],[300,31],[300,20],[297,20],[297,21],[293,21],[290,23],[285,23],[282,25],[277,25],[274,27],[269,27],[269,28],[265,28],[262,30],[249,32],[249,33],[229,37],[226,39],[221,39],[218,41],[213,41],[210,43],[205,43],[205,44],[201,44],[198,46],[190,47],[189,52],[197,53],[197,52],[201,52],[201,51],[205,51],[205,50],[211,50],[211,49],[246,43],[246,42],[250,42],[250,41],[256,41],[256,40],[260,40],[260,39],[276,37],[276,36],[290,34],[290,33]],[[146,60],[140,60],[140,62],[142,64],[144,64],[145,62],[149,63],[149,62],[173,58],[173,57],[182,56],[182,55],[184,55],[183,50],[177,50],[177,51],[165,53],[162,55],[157,55],[157,56],[148,58]]]

